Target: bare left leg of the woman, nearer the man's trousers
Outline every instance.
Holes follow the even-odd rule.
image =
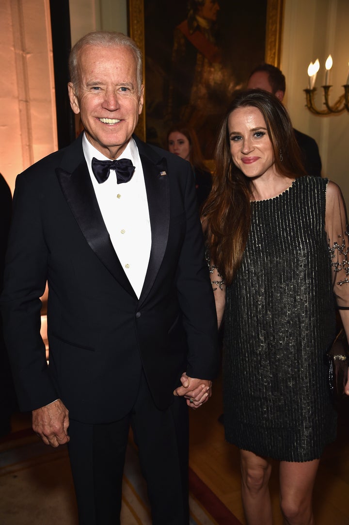
[[[247,450],[240,450],[241,496],[248,525],[271,525],[269,494],[271,464]]]

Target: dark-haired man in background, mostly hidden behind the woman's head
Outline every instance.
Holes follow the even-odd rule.
[[[269,93],[273,93],[282,102],[286,90],[286,81],[279,68],[272,64],[261,64],[251,72],[247,88],[264,89],[269,91]],[[294,128],[293,131],[295,140],[297,140],[301,150],[306,173],[315,177],[321,177],[322,165],[318,144],[309,135],[305,135],[305,133],[301,133]]]

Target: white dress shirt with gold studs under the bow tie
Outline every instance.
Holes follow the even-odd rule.
[[[110,160],[82,138],[85,156],[98,205],[112,245],[136,296],[141,295],[152,244],[148,201],[138,148],[131,138],[117,159],[130,159],[135,166],[131,180],[118,184],[114,170],[98,184],[92,172],[92,158]]]

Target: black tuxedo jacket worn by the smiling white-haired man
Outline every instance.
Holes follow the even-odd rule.
[[[191,167],[134,139],[152,237],[139,299],[103,222],[82,135],[17,177],[1,306],[23,411],[61,398],[78,421],[115,421],[131,410],[142,369],[160,409],[173,401],[184,371],[200,379],[217,373],[217,319]],[[39,334],[46,280],[49,366]]]

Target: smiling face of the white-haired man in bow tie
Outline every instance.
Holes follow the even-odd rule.
[[[127,47],[84,47],[79,56],[80,85],[69,83],[70,105],[80,113],[89,142],[109,159],[128,144],[143,108],[136,62]]]

